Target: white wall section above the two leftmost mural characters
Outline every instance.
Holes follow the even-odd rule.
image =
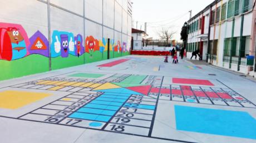
[[[19,6],[19,8],[12,8],[13,6]],[[40,11],[37,7],[40,7]],[[0,22],[21,24],[28,37],[38,30],[47,37],[47,4],[35,0],[0,1],[0,11]]]

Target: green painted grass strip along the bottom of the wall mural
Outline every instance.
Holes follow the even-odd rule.
[[[129,52],[122,53],[122,56],[130,55]],[[115,57],[114,57],[115,56]],[[110,51],[110,58],[121,57],[121,53]],[[95,51],[92,58],[89,53],[85,53],[80,57],[69,55],[67,58],[52,58],[52,70],[67,68],[72,66],[83,65],[97,61],[107,60],[107,51],[103,55],[100,51]],[[9,80],[36,73],[49,71],[49,58],[42,55],[29,55],[14,61],[0,60],[0,81]]]

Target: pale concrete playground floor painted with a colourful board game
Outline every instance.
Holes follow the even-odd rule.
[[[163,61],[126,56],[2,81],[0,142],[256,142],[255,82]]]

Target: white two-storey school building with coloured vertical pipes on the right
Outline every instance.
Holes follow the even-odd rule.
[[[254,76],[255,0],[216,0],[188,21],[187,57]]]

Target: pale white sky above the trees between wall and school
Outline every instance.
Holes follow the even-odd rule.
[[[147,22],[148,37],[158,39],[157,31],[161,27],[176,32],[173,40],[180,41],[180,31],[183,24],[208,6],[213,0],[132,0],[132,27],[144,31]],[[138,21],[138,22],[137,22]],[[136,24],[137,22],[137,24]]]

